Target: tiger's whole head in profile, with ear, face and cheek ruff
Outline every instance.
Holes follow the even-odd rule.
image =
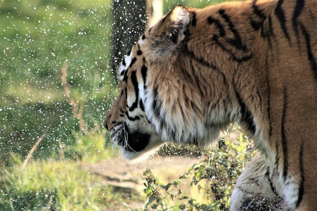
[[[191,14],[176,6],[140,36],[118,68],[120,94],[104,125],[128,159],[164,142],[206,145],[219,128],[206,130],[197,81],[183,71]],[[202,141],[208,137],[209,141]]]

